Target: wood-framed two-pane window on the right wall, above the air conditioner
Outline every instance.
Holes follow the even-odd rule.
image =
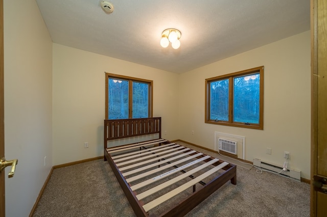
[[[205,123],[263,129],[264,67],[205,79]]]

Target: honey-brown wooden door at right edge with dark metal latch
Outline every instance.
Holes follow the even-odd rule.
[[[327,1],[311,0],[311,216],[327,216]]]

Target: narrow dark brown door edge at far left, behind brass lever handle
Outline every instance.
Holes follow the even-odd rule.
[[[0,0],[0,158],[5,156],[4,126],[4,2]],[[0,171],[0,217],[5,216],[5,171]]]

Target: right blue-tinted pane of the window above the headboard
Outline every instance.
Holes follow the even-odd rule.
[[[133,118],[149,117],[149,85],[133,82]]]

